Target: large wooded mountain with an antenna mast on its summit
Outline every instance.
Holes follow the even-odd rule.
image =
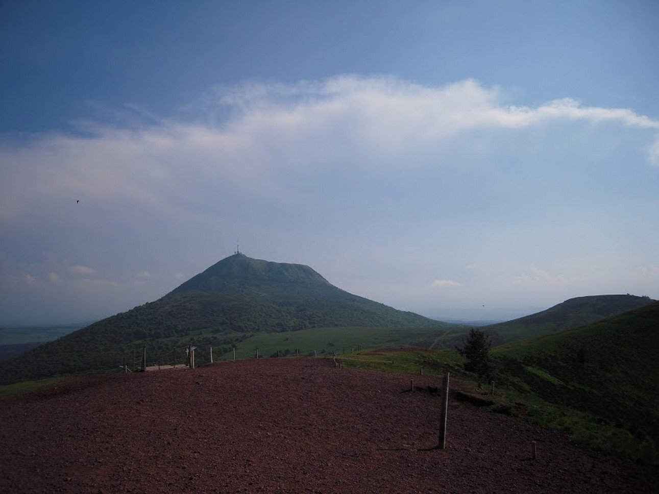
[[[132,365],[187,344],[229,352],[252,333],[320,327],[453,327],[334,287],[308,266],[237,253],[169,294],[107,317],[13,360],[0,362],[0,383]],[[179,363],[182,357],[179,354]]]

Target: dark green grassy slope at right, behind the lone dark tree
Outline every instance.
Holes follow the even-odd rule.
[[[613,299],[616,300],[616,299]],[[619,299],[617,299],[619,300]],[[577,301],[579,303],[579,301]],[[510,385],[600,417],[659,460],[659,302],[492,350]],[[567,424],[566,424],[567,425]],[[602,441],[627,441],[625,433]]]

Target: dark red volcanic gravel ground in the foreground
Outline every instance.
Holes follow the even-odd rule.
[[[656,468],[331,360],[95,375],[0,401],[6,493],[639,493]],[[451,383],[451,389],[459,387]],[[537,458],[531,459],[531,441]],[[654,483],[653,483],[654,482]]]

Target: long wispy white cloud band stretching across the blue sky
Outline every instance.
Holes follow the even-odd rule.
[[[538,107],[504,105],[496,88],[474,80],[440,87],[357,76],[247,84],[220,92],[214,104],[230,115],[217,126],[169,119],[5,145],[0,220],[24,217],[34,207],[62,221],[98,207],[121,215],[181,215],[200,208],[211,190],[219,201],[237,190],[244,198],[279,200],[294,177],[348,163],[367,170],[391,163],[404,170],[424,146],[470,130],[513,131],[563,120],[659,129],[659,122],[629,109],[587,107],[569,98]],[[436,156],[438,150],[428,152]],[[650,146],[649,159],[659,163],[659,141]],[[69,208],[53,207],[59,204],[53,198],[67,204],[82,199],[76,217]]]

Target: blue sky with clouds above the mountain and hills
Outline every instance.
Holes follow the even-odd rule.
[[[659,2],[0,3],[0,325],[237,246],[436,319],[659,298]]]

